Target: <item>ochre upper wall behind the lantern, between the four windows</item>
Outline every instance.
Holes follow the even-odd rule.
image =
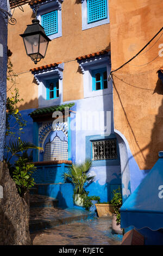
[[[33,82],[33,75],[29,72],[36,66],[55,62],[64,62],[63,100],[77,100],[83,98],[83,74],[78,69],[76,58],[89,53],[95,53],[110,46],[110,25],[102,25],[82,31],[82,3],[80,0],[65,0],[62,3],[62,36],[53,39],[48,46],[45,59],[35,65],[27,57],[22,34],[26,26],[34,18],[28,4],[23,5],[24,13],[16,8],[15,26],[9,25],[8,46],[13,52],[11,56],[14,71],[18,75],[17,87],[24,98],[24,105],[20,109],[38,107],[37,85]],[[26,72],[26,73],[24,73]],[[23,73],[23,74],[20,74]]]

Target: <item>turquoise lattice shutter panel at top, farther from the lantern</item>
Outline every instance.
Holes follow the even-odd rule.
[[[108,0],[87,0],[87,23],[107,19]]]

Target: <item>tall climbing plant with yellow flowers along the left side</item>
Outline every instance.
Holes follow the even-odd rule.
[[[20,99],[20,94],[16,86],[16,74],[12,69],[13,65],[8,59],[8,77],[7,80],[10,81],[10,95],[7,97],[6,103],[6,132],[5,132],[5,159],[7,163],[10,176],[15,181],[18,193],[22,197],[26,191],[34,186],[34,178],[32,174],[36,167],[34,167],[32,162],[32,155],[28,156],[28,149],[42,150],[42,148],[36,147],[33,143],[22,141],[21,135],[24,133],[23,128],[26,126],[26,120],[22,117],[21,113],[18,111],[17,104],[23,101]],[[14,93],[11,92],[12,87],[14,88]],[[11,127],[12,124],[12,127]],[[18,157],[18,160],[14,165],[11,164],[12,157]]]

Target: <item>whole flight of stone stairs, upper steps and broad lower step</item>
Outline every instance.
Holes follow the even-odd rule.
[[[35,192],[32,191],[30,194],[30,233],[95,217],[94,214],[83,209],[59,208],[57,199],[35,194]]]

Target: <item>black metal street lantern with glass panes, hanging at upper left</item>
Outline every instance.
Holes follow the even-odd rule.
[[[27,55],[35,64],[45,57],[48,43],[51,39],[46,35],[39,20],[34,19],[31,25],[27,25],[24,34],[21,34]]]

